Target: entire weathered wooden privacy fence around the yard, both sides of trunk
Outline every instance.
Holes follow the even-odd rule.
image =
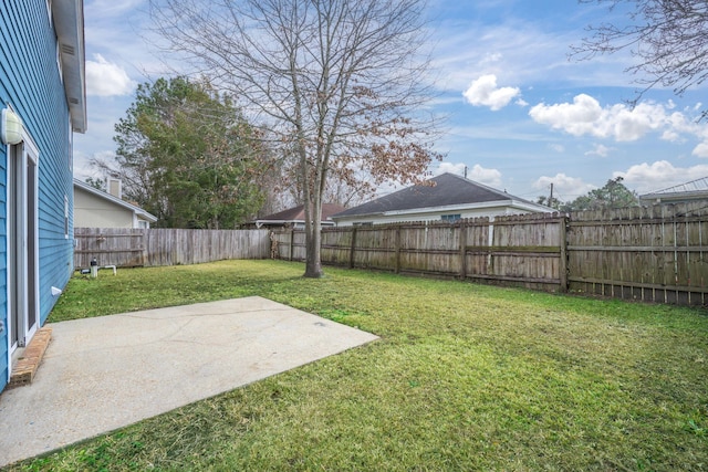
[[[303,231],[74,229],[75,268],[305,259]],[[272,238],[272,240],[271,240]],[[322,262],[708,305],[708,202],[322,231]]]

